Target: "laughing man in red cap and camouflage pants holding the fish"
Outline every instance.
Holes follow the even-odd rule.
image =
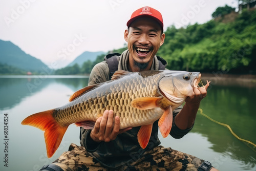
[[[131,72],[164,69],[165,61],[156,56],[165,38],[161,13],[151,7],[140,8],[132,14],[127,27],[124,39],[128,50],[120,56],[109,56],[117,61],[117,69]],[[111,65],[108,58],[98,63],[91,72],[89,85],[110,80]],[[184,107],[174,110],[171,136],[182,138],[192,129],[206,89],[195,88]],[[137,141],[140,127],[123,130],[119,127],[119,117],[113,117],[112,110],[105,111],[93,130],[81,128],[82,146],[71,144],[68,152],[41,170],[198,170],[199,167],[199,170],[216,170],[209,162],[159,146],[157,121],[148,143],[151,145],[145,149]]]

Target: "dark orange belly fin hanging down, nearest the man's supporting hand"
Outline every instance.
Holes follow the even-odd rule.
[[[138,132],[138,141],[141,148],[145,148],[150,141],[153,124],[142,125]]]

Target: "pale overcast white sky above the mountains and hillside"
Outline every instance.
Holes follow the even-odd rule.
[[[211,19],[217,7],[237,0],[0,0],[0,39],[43,62],[72,61],[84,51],[122,48],[126,22],[143,6],[159,10],[164,30]]]

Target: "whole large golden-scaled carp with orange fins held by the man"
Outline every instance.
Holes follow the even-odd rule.
[[[156,120],[159,119],[162,136],[168,136],[173,110],[193,94],[200,77],[198,72],[185,71],[117,71],[112,80],[80,89],[66,105],[30,115],[22,124],[45,131],[50,158],[70,124],[93,129],[95,121],[105,110],[113,110],[114,117],[120,118],[120,129],[141,126],[138,142],[145,148]]]

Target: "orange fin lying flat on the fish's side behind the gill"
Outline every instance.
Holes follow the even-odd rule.
[[[162,97],[139,97],[133,99],[131,105],[133,108],[137,108],[139,110],[148,110],[154,109],[158,106],[158,100],[162,99]]]

